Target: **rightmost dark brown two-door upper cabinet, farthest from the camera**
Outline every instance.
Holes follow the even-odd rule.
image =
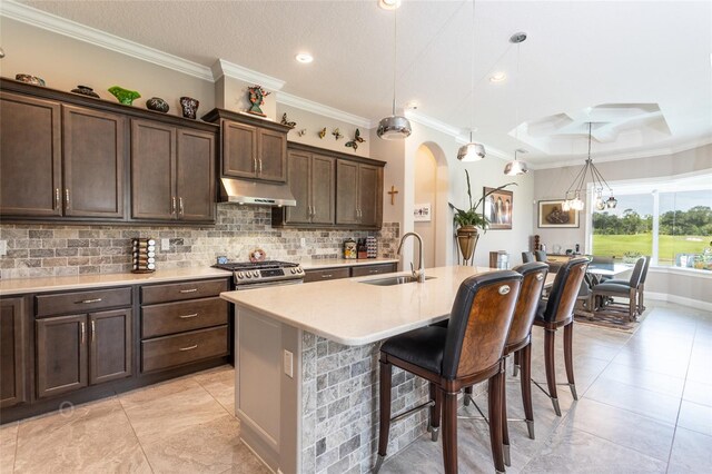
[[[336,160],[336,224],[379,228],[383,220],[383,168]]]

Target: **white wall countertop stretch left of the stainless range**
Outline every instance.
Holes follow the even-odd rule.
[[[100,288],[120,285],[142,285],[195,278],[229,277],[231,271],[210,267],[156,270],[152,274],[75,275],[41,278],[10,278],[0,280],[0,296],[67,289]]]

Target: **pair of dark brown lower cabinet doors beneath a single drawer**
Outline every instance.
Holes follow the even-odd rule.
[[[37,319],[37,396],[131,375],[131,309]]]

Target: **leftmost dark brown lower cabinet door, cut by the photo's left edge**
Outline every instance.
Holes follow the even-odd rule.
[[[23,298],[0,299],[0,407],[26,402],[26,324]]]

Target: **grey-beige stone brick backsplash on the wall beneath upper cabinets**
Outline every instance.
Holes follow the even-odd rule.
[[[271,210],[219,204],[215,226],[128,227],[2,224],[0,239],[8,255],[0,257],[2,278],[125,273],[131,269],[130,245],[135,237],[157,241],[157,268],[205,267],[218,255],[244,261],[259,247],[270,259],[310,260],[338,258],[343,241],[375,236],[378,256],[395,258],[398,223],[384,223],[379,231],[279,229],[271,227]],[[160,249],[160,239],[170,241]],[[304,247],[301,239],[305,239]]]

